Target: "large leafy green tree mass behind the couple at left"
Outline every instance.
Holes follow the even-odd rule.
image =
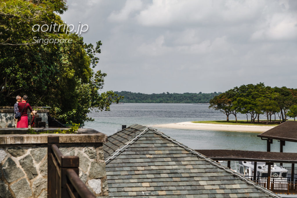
[[[32,26],[64,24],[59,15],[65,0],[7,0],[0,4],[0,105],[13,105],[16,95],[27,94],[31,106],[50,106],[50,115],[63,123],[92,121],[92,109],[109,110],[122,97],[99,94],[105,73],[94,72],[101,41],[83,42],[77,34],[32,31]],[[72,39],[72,43],[32,44],[33,37]]]

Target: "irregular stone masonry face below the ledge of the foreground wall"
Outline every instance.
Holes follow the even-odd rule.
[[[79,177],[96,197],[108,197],[101,143],[59,144],[79,160]],[[0,145],[0,197],[47,197],[47,145]]]

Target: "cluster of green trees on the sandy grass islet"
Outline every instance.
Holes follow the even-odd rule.
[[[266,116],[266,124],[271,122],[271,116],[278,116],[279,122],[287,117],[297,116],[297,89],[287,87],[265,86],[264,83],[248,84],[234,87],[224,93],[214,96],[210,100],[209,108],[219,110],[227,116],[234,115],[237,122],[237,113],[247,115],[247,122],[259,122],[259,115]],[[249,117],[249,118],[248,118]]]

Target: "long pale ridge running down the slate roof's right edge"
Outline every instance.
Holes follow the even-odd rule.
[[[170,138],[169,136],[163,134],[162,132],[159,132],[159,131],[157,131],[156,129],[151,128],[151,127],[148,127],[148,129],[153,129],[154,132],[159,133],[161,136],[167,138],[170,142],[173,142],[174,144],[176,144],[176,145],[178,145],[178,146],[180,146],[180,147],[183,147],[184,149],[188,150],[188,151],[191,152],[192,154],[194,154],[194,155],[196,155],[196,156],[199,156],[200,158],[203,158],[204,160],[208,161],[209,163],[215,165],[216,167],[219,167],[220,169],[223,169],[223,170],[225,170],[226,172],[229,172],[229,173],[231,173],[232,175],[237,176],[239,179],[246,181],[249,185],[252,185],[252,186],[256,187],[257,189],[263,191],[264,193],[269,194],[269,195],[272,195],[272,196],[274,196],[274,197],[279,197],[279,196],[277,196],[276,194],[274,194],[273,192],[271,192],[271,191],[269,191],[269,190],[267,190],[267,189],[265,189],[265,188],[262,188],[262,186],[260,186],[260,185],[258,185],[258,184],[255,184],[255,183],[252,182],[251,180],[249,180],[249,179],[247,179],[247,178],[245,178],[245,177],[242,177],[242,176],[239,175],[237,172],[234,172],[234,171],[230,170],[229,168],[225,168],[223,165],[221,165],[221,164],[217,164],[216,162],[214,162],[213,160],[207,158],[206,156],[202,155],[201,153],[198,153],[198,152],[196,152],[195,150],[193,150],[193,149],[191,149],[191,148],[188,148],[187,146],[181,144],[180,142],[178,142],[178,141],[176,141],[176,140],[173,140],[172,138]]]

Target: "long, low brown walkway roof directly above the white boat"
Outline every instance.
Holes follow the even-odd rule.
[[[297,163],[297,153],[238,150],[195,150],[213,160]]]

